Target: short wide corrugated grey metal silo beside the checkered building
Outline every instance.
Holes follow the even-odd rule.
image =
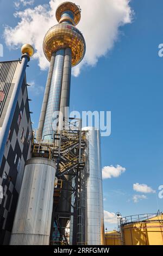
[[[55,172],[51,160],[27,161],[10,245],[49,245]]]

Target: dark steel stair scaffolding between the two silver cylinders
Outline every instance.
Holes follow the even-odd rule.
[[[33,157],[51,159],[57,168],[51,245],[85,245],[85,132],[81,130],[81,122],[81,119],[70,118],[68,129],[54,133],[53,143],[40,140],[33,144]],[[59,210],[63,192],[67,195],[64,200],[71,204],[68,212]],[[61,227],[61,219],[66,220],[65,227]]]

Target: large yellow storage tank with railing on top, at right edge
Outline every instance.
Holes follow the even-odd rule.
[[[163,214],[121,218],[123,245],[163,245]]]

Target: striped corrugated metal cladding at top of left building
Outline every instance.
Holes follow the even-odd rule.
[[[18,60],[12,62],[0,62],[0,91],[4,93],[4,99],[3,101],[0,101],[0,117],[7,101],[8,94],[12,93],[13,88],[11,88],[11,83],[18,63]]]

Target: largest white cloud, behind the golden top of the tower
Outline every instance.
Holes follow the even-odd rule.
[[[26,1],[27,2],[27,1]],[[28,1],[30,2],[30,1]],[[49,63],[42,51],[43,38],[50,27],[57,23],[55,10],[62,0],[51,0],[48,4],[37,5],[17,11],[20,19],[16,27],[5,27],[4,38],[7,46],[21,47],[32,44],[36,50],[34,58],[45,70]],[[82,8],[82,19],[78,25],[86,40],[86,54],[82,63],[73,68],[73,75],[78,76],[83,65],[94,66],[98,59],[106,56],[118,38],[121,26],[131,22],[133,12],[130,0],[76,0]]]

